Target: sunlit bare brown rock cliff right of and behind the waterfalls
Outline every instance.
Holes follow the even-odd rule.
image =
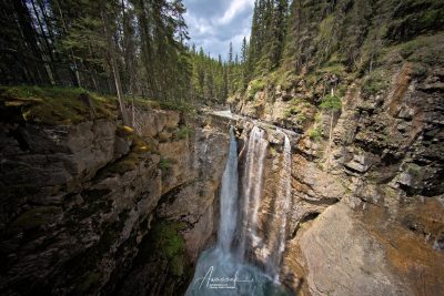
[[[365,96],[356,80],[341,111],[320,111],[312,124],[321,127],[292,136],[281,276],[303,295],[435,295],[444,286],[443,68],[422,78],[410,62],[391,70],[384,92]],[[246,141],[252,124],[238,125]],[[268,242],[278,232],[268,221],[284,214],[271,206],[281,193],[283,139],[263,129],[269,150],[258,227]],[[312,137],[311,129],[321,135]],[[269,243],[252,248],[260,265]]]

